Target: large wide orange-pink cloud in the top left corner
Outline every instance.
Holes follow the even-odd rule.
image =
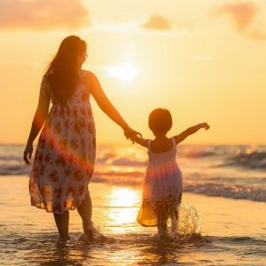
[[[0,0],[0,29],[74,29],[88,20],[80,0]]]

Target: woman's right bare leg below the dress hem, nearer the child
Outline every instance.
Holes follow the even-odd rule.
[[[82,225],[84,232],[90,232],[92,234],[93,227],[91,222],[92,216],[92,204],[90,199],[90,192],[86,193],[85,199],[82,201],[82,204],[77,207],[79,215],[82,217]]]

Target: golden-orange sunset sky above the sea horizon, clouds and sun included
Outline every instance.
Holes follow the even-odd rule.
[[[26,143],[43,71],[67,35],[133,129],[166,107],[184,144],[266,144],[266,2],[0,0],[0,143]],[[127,143],[93,106],[98,143]]]

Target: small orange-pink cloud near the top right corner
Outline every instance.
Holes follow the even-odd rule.
[[[241,31],[246,29],[254,20],[258,12],[258,7],[252,2],[238,4],[222,4],[215,8],[218,14],[229,14],[235,24],[235,27]]]

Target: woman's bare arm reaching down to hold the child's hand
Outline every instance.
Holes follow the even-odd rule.
[[[117,123],[125,132],[127,138],[137,136],[137,131],[130,129],[126,121],[121,117],[121,114],[116,110],[111,101],[106,97],[105,91],[102,89],[100,82],[95,74],[87,71],[86,84],[91,95],[95,98],[98,106],[106,113],[115,123]]]

